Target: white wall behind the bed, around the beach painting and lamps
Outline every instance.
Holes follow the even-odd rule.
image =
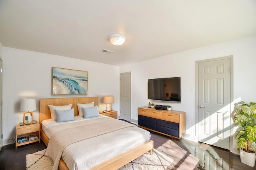
[[[113,95],[112,108],[120,110],[119,66],[72,59],[46,53],[3,47],[3,144],[15,136],[16,124],[22,122],[21,98],[35,98],[37,110],[33,119],[39,121],[40,98],[99,96],[99,110],[106,109],[102,97]],[[85,54],[86,55],[86,54]],[[52,67],[88,71],[87,95],[52,95]]]

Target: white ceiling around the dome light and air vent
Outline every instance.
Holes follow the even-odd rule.
[[[0,0],[4,47],[119,66],[255,34],[256,0]]]

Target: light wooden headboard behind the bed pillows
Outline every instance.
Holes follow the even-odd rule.
[[[43,120],[51,118],[51,112],[48,105],[62,106],[72,104],[72,108],[74,108],[74,115],[77,116],[78,103],[86,104],[94,102],[94,106],[98,106],[98,100],[98,97],[40,99],[40,125]]]

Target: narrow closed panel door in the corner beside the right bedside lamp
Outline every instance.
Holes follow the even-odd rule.
[[[131,73],[121,73],[120,77],[120,119],[131,121]]]

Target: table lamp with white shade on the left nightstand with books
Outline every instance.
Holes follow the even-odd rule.
[[[36,99],[21,99],[20,111],[23,111],[23,123],[25,122],[25,114],[31,115],[31,121],[33,120],[33,111],[36,110]],[[30,124],[30,123],[29,123]]]

